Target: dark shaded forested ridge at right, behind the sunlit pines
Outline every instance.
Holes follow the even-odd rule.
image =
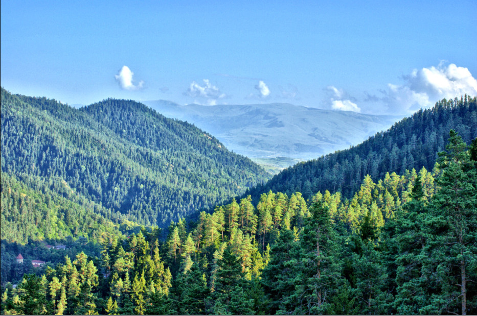
[[[450,129],[466,143],[477,137],[477,97],[441,100],[350,149],[289,167],[245,196],[256,200],[269,190],[288,195],[299,191],[309,199],[317,191],[330,190],[349,198],[366,175],[377,181],[387,172],[403,175],[405,169],[432,169]]]

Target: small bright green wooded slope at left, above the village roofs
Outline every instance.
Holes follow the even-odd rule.
[[[103,232],[122,235],[124,216],[78,196],[64,180],[50,179],[50,187],[38,177],[21,181],[3,172],[1,177],[2,240],[25,245],[67,237],[97,241]]]

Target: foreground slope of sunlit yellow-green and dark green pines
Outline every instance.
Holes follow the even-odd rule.
[[[477,140],[450,131],[433,171],[339,192],[263,193],[101,236],[2,294],[6,314],[475,314]],[[447,137],[446,137],[447,140]],[[257,203],[255,208],[254,202]]]

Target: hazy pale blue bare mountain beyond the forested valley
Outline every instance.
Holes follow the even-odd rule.
[[[288,162],[349,148],[398,120],[394,116],[321,110],[288,103],[215,106],[181,106],[168,101],[144,103],[165,116],[193,123],[215,135],[228,149],[249,158],[285,157],[290,159]],[[275,162],[280,163],[277,159]]]

